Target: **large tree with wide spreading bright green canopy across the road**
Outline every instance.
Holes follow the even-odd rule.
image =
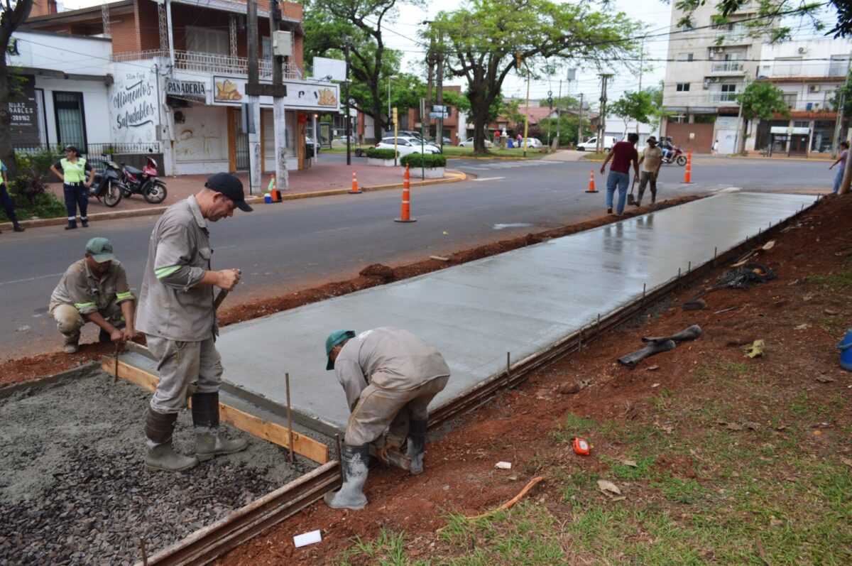
[[[636,50],[626,38],[639,25],[588,3],[471,0],[464,9],[440,12],[431,28],[424,37],[446,38],[447,71],[468,81],[474,151],[485,153],[489,113],[509,72],[534,75],[552,59],[617,61]]]

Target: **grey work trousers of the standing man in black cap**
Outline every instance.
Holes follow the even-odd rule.
[[[177,413],[187,406],[187,388],[198,393],[216,393],[222,384],[222,357],[213,337],[202,342],[177,342],[147,334],[148,349],[157,356],[159,384],[151,398],[157,413]]]

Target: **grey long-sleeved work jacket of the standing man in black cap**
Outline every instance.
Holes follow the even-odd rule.
[[[148,244],[136,328],[179,342],[211,338],[216,325],[213,286],[196,285],[210,271],[212,253],[195,197],[167,208]]]

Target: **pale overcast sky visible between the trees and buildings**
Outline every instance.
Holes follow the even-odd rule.
[[[555,0],[562,3],[565,0]],[[66,9],[78,9],[87,6],[99,5],[98,0],[60,0],[60,4]],[[403,53],[403,71],[419,72],[423,68],[420,62],[425,58],[426,44],[417,38],[417,32],[423,27],[419,22],[435,17],[440,11],[451,11],[458,9],[462,2],[459,0],[425,0],[426,8],[418,9],[404,6],[395,21],[386,23],[385,43],[393,49],[399,49]],[[643,66],[642,88],[659,84],[665,77],[665,59],[667,57],[669,38],[664,34],[671,31],[671,4],[661,0],[614,0],[610,4],[613,9],[624,11],[631,18],[641,20],[648,26],[648,35],[661,36],[648,38],[644,43],[646,63]],[[829,15],[827,20],[831,21]],[[809,22],[799,22],[801,31],[797,34],[798,39],[816,37]],[[640,41],[637,39],[637,41]],[[656,61],[655,61],[656,60]],[[601,83],[595,68],[577,68],[576,80],[567,81],[567,70],[562,70],[558,75],[533,80],[530,83],[530,99],[538,100],[547,97],[552,92],[556,97],[571,95],[579,98],[584,94],[586,100],[596,101],[600,96]],[[423,77],[425,80],[425,77]],[[561,80],[561,84],[560,84]],[[610,101],[616,100],[627,90],[638,90],[640,86],[638,73],[626,69],[616,70],[614,77],[609,81],[607,96]],[[444,84],[462,85],[461,79],[445,78]],[[524,98],[527,95],[526,79],[517,77],[513,72],[509,73],[503,87],[505,96]]]

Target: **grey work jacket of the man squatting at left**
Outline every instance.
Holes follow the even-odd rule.
[[[121,262],[113,259],[107,273],[98,278],[89,269],[89,263],[81,259],[72,263],[62,275],[50,296],[48,309],[53,313],[60,304],[70,304],[85,316],[107,309],[112,301],[122,303],[132,300],[133,293],[127,286],[127,274]]]

